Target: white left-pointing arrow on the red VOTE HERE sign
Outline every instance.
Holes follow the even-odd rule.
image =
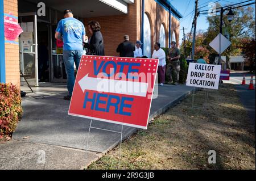
[[[82,91],[93,90],[98,92],[110,92],[116,94],[135,95],[146,97],[148,83],[121,81],[114,79],[88,77],[86,74],[78,82]]]

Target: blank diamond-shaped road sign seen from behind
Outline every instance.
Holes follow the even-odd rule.
[[[218,34],[212,42],[209,44],[218,54],[221,54],[225,51],[226,48],[231,45],[231,42],[226,39],[221,33]]]

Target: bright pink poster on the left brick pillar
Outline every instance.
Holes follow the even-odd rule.
[[[5,38],[14,41],[23,30],[19,26],[18,19],[11,17],[13,16],[11,13],[9,15],[5,16]]]

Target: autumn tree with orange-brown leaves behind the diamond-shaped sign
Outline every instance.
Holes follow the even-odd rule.
[[[217,3],[216,7],[220,7],[220,4]],[[253,17],[254,9],[250,6],[248,7],[240,7],[238,9],[232,10],[234,13],[234,18],[232,22],[228,21],[227,11],[223,14],[223,27],[227,28],[229,33],[229,40],[231,41],[231,45],[228,49],[225,50],[222,55],[226,56],[226,65],[227,68],[230,69],[230,54],[239,55],[242,53],[241,40],[249,37],[253,37],[255,35],[255,20]],[[216,16],[208,16],[207,21],[209,23],[209,27],[207,32],[204,33],[204,42],[203,44],[207,46],[210,54],[216,53],[211,47],[209,47],[209,43],[218,35],[220,32],[220,15]]]

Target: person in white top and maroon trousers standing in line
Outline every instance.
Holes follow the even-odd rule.
[[[159,64],[158,64],[158,76],[159,76],[159,82],[160,86],[163,86],[164,84],[164,77],[166,75],[166,53],[162,48],[160,48],[160,43],[155,43],[155,49],[152,54],[152,58],[159,58]]]

